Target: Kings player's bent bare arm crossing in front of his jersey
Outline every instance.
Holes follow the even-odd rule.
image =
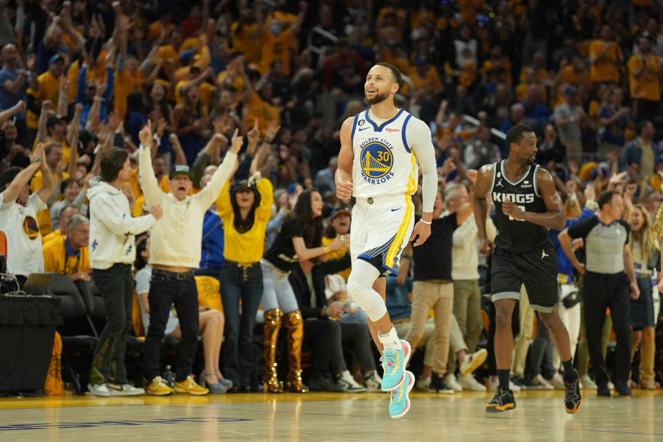
[[[547,212],[523,212],[518,209],[515,203],[504,202],[502,204],[504,214],[510,215],[517,220],[526,220],[533,224],[539,224],[539,226],[547,227],[548,229],[564,230],[564,227],[566,227],[566,213],[564,212],[564,205],[561,204],[561,197],[555,190],[555,182],[553,181],[553,177],[550,176],[550,172],[545,169],[539,169],[537,172],[537,184],[541,198],[544,199],[546,209],[548,209]]]

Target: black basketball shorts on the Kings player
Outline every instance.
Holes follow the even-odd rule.
[[[525,286],[532,309],[550,313],[559,300],[557,254],[553,243],[546,241],[526,253],[495,249],[490,273],[490,299],[520,299]]]

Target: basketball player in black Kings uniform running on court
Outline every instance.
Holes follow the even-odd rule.
[[[490,298],[495,305],[495,362],[499,387],[487,412],[503,412],[516,407],[509,388],[511,314],[525,285],[532,309],[539,312],[555,342],[564,364],[566,395],[564,408],[577,412],[582,403],[578,373],[573,368],[566,327],[557,313],[557,257],[548,238],[548,229],[564,229],[566,215],[555,191],[553,177],[535,164],[537,136],[532,128],[518,124],[506,134],[509,156],[487,164],[479,171],[474,186],[474,219],[477,221],[481,253],[492,251]],[[486,197],[492,196],[497,212],[495,247],[486,238]]]

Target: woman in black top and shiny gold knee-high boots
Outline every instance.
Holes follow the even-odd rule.
[[[316,189],[307,189],[281,224],[276,239],[260,262],[262,265],[262,309],[265,310],[265,392],[278,393],[282,389],[276,374],[276,342],[281,325],[287,329],[288,390],[305,393],[302,383],[302,314],[288,281],[290,271],[299,260],[311,260],[329,251],[345,247],[344,240],[334,240],[323,247],[323,198]]]

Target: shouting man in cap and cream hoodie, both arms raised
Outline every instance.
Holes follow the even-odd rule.
[[[145,202],[160,204],[164,208],[164,219],[155,224],[150,233],[150,327],[144,349],[145,376],[151,381],[147,394],[165,396],[173,394],[173,390],[193,395],[207,394],[209,390],[195,383],[191,373],[199,328],[198,289],[193,279],[193,270],[200,265],[204,213],[218,198],[233,173],[243,137],[238,136],[238,131],[235,131],[231,148],[211,180],[204,189],[190,196],[193,173],[186,164],[175,164],[171,167],[170,193],[164,193],[160,189],[152,169],[150,144],[153,139],[152,124],[149,120],[138,136],[141,145],[138,176]],[[220,134],[214,136],[223,137]],[[173,304],[180,319],[182,338],[177,354],[175,385],[171,388],[160,376],[159,354]]]

